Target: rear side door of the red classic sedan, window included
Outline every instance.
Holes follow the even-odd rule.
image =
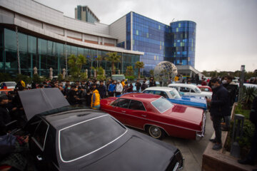
[[[143,125],[146,124],[147,116],[147,111],[143,103],[138,100],[131,100],[129,108],[126,111],[125,125],[143,129]]]

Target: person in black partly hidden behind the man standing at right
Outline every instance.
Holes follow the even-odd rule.
[[[235,82],[233,82],[233,78],[231,76],[225,76],[222,84],[228,90],[229,108],[230,110],[232,110],[233,103],[235,103],[236,95],[238,94],[238,86]],[[223,130],[228,131],[231,123],[231,112],[229,113],[229,115],[224,116],[224,120],[226,125]]]

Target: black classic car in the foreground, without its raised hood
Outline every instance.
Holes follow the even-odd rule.
[[[47,110],[34,115],[25,130],[31,136],[29,147],[37,170],[183,167],[183,157],[176,147],[126,128],[99,110],[71,106]]]

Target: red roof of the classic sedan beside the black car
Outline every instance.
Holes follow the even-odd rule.
[[[154,95],[148,93],[128,93],[121,96],[121,98],[128,98],[131,100],[141,100],[142,102],[152,102],[158,98],[161,98],[161,95]]]

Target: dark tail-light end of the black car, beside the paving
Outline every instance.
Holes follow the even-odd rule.
[[[181,152],[178,150],[174,157],[171,160],[171,163],[168,165],[166,171],[176,171],[181,170],[183,167],[183,156]]]

